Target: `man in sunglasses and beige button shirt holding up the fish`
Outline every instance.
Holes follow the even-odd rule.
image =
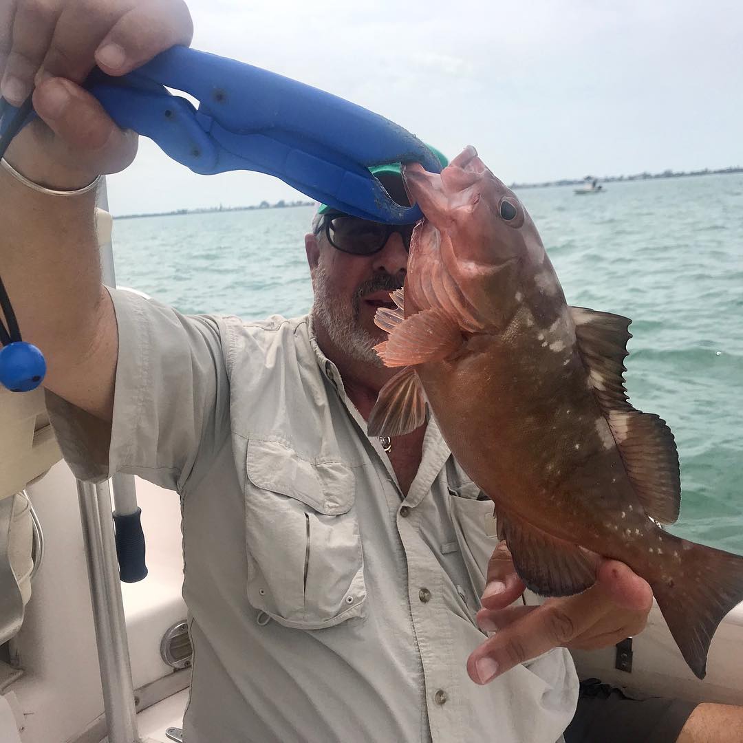
[[[580,596],[514,617],[523,585],[435,422],[366,435],[391,373],[371,351],[374,311],[402,284],[410,228],[366,225],[360,241],[321,215],[305,238],[311,317],[184,317],[107,291],[86,186],[126,167],[136,138],[78,83],[189,43],[189,14],[180,0],[0,0],[0,20],[2,94],[20,103],[36,79],[40,117],[0,169],[3,279],[45,351],[77,475],[137,473],[181,495],[189,743],[559,739],[577,700],[565,648],[639,632],[649,586],[607,561]]]

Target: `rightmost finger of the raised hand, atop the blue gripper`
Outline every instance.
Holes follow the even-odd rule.
[[[184,2],[149,0],[117,21],[100,42],[95,58],[104,71],[123,75],[176,44],[188,46],[192,36],[193,22]]]

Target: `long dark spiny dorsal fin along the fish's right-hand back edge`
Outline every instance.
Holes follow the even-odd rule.
[[[681,478],[678,452],[666,421],[630,405],[624,386],[627,328],[632,320],[608,312],[571,307],[577,345],[588,367],[627,475],[646,513],[663,524],[678,519]]]

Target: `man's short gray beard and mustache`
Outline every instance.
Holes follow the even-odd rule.
[[[316,322],[322,324],[331,341],[338,348],[343,348],[352,359],[383,368],[384,363],[377,356],[377,351],[374,351],[374,346],[380,343],[380,340],[359,325],[360,302],[365,294],[383,288],[392,291],[398,288],[399,284],[390,276],[364,282],[354,293],[349,306],[331,290],[328,273],[321,261],[315,268],[312,285],[315,295],[312,305],[313,317]]]

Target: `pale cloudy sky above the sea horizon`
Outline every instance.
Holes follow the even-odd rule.
[[[192,46],[330,91],[506,183],[743,165],[743,4],[710,0],[191,0]],[[249,94],[249,93],[248,93]],[[114,215],[304,198],[195,175],[151,140]]]

